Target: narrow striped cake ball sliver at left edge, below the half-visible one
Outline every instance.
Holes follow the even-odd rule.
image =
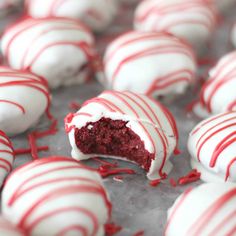
[[[10,139],[1,130],[0,130],[0,154],[1,154],[0,187],[2,187],[7,174],[12,170],[12,165],[14,161],[14,150]],[[0,220],[0,228],[1,228],[1,220]],[[0,235],[2,235],[1,229],[0,229]]]

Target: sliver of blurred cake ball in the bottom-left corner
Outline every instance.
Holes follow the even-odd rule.
[[[8,220],[0,216],[0,235],[1,236],[24,236],[23,232],[17,229]]]

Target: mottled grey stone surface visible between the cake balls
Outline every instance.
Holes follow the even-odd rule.
[[[132,10],[122,11],[117,18],[117,21],[112,25],[105,36],[99,36],[98,46],[102,52],[105,44],[109,41],[113,35],[119,32],[131,29]],[[217,40],[217,46],[214,41],[212,43],[212,49],[210,54],[219,57],[225,52],[229,51],[228,47],[228,33],[230,28],[229,20],[227,25],[221,26],[216,36],[213,36]],[[49,145],[49,152],[41,152],[40,157],[53,156],[53,155],[70,155],[70,145],[67,136],[64,132],[63,119],[67,113],[71,112],[68,104],[71,101],[77,101],[82,103],[88,98],[96,96],[102,92],[103,88],[97,82],[90,84],[73,86],[70,88],[61,88],[53,92],[52,98],[52,113],[57,117],[59,121],[59,132],[55,136],[50,136],[41,139],[39,145]],[[176,117],[178,128],[180,132],[180,149],[182,153],[179,156],[172,157],[172,163],[174,164],[173,171],[170,177],[178,179],[179,177],[187,174],[190,171],[189,154],[186,150],[186,141],[190,130],[198,120],[186,114],[185,106],[195,97],[196,92],[189,90],[188,94],[183,97],[175,99],[172,105],[167,104],[169,109]],[[47,119],[42,119],[35,128],[47,127]],[[13,138],[15,148],[27,147],[26,134]],[[30,156],[19,156],[16,159],[15,167],[19,166],[27,161],[30,161]],[[88,161],[86,164],[96,166],[97,163]],[[134,169],[137,174],[124,175],[123,183],[114,181],[112,177],[105,180],[105,185],[111,196],[113,203],[113,221],[121,225],[123,230],[118,235],[129,236],[133,235],[139,230],[144,230],[145,235],[159,236],[163,235],[163,229],[166,222],[167,209],[173,204],[174,200],[181,194],[186,188],[200,184],[200,181],[188,186],[173,188],[169,182],[166,181],[156,188],[150,187],[149,182],[146,179],[145,173],[137,166],[119,161],[121,167],[130,167]]]

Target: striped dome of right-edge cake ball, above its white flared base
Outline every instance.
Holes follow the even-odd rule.
[[[193,158],[202,165],[209,163],[207,169],[214,172],[215,168],[225,175],[225,181],[231,175],[235,180],[235,174],[230,172],[230,168],[236,164],[236,112],[224,113],[200,123],[191,132],[189,144],[189,149],[194,148],[194,151],[190,150]],[[206,151],[206,146],[211,148]],[[225,165],[218,164],[224,160]]]

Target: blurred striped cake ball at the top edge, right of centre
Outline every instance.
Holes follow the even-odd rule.
[[[137,29],[159,32],[174,32],[177,27],[192,25],[199,26],[199,30],[204,28],[210,34],[215,23],[216,13],[201,1],[143,1],[138,6],[135,17]],[[176,31],[175,33],[178,35]],[[186,37],[187,33],[179,36]]]

